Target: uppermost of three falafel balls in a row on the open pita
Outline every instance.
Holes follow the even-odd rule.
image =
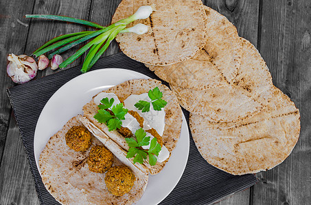
[[[66,144],[76,152],[88,150],[92,143],[92,134],[84,126],[73,126],[65,135]]]

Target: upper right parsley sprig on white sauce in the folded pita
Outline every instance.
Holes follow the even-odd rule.
[[[168,102],[161,99],[163,97],[163,93],[159,90],[159,87],[154,87],[153,90],[149,90],[148,96],[150,98],[150,102],[145,100],[139,100],[135,107],[137,109],[141,110],[141,112],[145,113],[150,111],[150,103],[152,104],[152,107],[154,110],[161,111],[163,107],[165,107]]]

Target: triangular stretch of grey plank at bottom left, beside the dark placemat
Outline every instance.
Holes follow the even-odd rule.
[[[15,120],[10,120],[0,176],[0,204],[40,204]]]

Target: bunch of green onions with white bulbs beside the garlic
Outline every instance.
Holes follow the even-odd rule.
[[[54,55],[58,55],[62,52],[65,52],[71,49],[73,46],[81,44],[87,40],[91,40],[81,49],[79,49],[76,53],[71,55],[68,59],[63,61],[59,67],[65,68],[73,61],[75,61],[78,57],[80,57],[83,53],[89,50],[89,53],[84,59],[82,69],[80,70],[82,73],[87,72],[90,68],[95,64],[95,62],[100,59],[100,56],[106,51],[108,46],[111,44],[113,39],[117,36],[118,33],[126,33],[126,32],[134,32],[137,34],[143,34],[148,31],[148,26],[143,25],[141,23],[135,25],[134,27],[126,28],[126,25],[132,23],[138,19],[145,19],[150,16],[154,9],[150,5],[142,5],[135,14],[129,16],[128,18],[124,18],[122,20],[109,25],[108,27],[103,27],[102,25],[98,25],[96,23],[89,22],[87,20],[82,20],[78,18],[71,18],[67,16],[57,16],[57,15],[44,15],[44,14],[27,14],[26,18],[44,18],[49,20],[62,20],[71,23],[79,23],[82,25],[87,25],[90,27],[95,27],[99,29],[97,31],[81,31],[77,33],[68,33],[62,36],[58,36],[49,40],[47,43],[43,44],[40,48],[36,49],[32,55],[38,57],[43,55],[49,51],[56,50],[53,53],[48,55],[48,58],[51,59]]]

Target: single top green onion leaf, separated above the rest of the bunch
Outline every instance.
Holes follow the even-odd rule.
[[[83,25],[87,25],[90,27],[95,27],[97,29],[103,29],[104,27],[101,25],[98,25],[93,22],[89,22],[87,20],[82,20],[79,18],[72,18],[72,17],[67,17],[67,16],[57,16],[57,15],[45,15],[45,14],[26,14],[26,18],[45,18],[49,20],[62,20],[62,21],[67,21],[71,23],[80,23]]]

